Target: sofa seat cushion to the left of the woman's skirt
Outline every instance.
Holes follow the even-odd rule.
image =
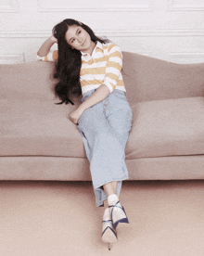
[[[69,120],[75,106],[17,97],[3,106],[1,155],[86,158],[82,135]]]

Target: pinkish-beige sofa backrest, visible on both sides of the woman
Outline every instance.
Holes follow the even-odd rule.
[[[53,100],[54,65],[44,61],[0,65],[1,97]],[[123,52],[122,70],[127,98],[132,106],[142,101],[204,96],[204,63],[176,64]],[[55,102],[58,102],[57,98]]]

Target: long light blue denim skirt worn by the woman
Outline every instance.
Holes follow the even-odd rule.
[[[83,95],[86,100],[96,90]],[[132,127],[133,113],[125,93],[115,89],[105,100],[83,111],[78,128],[83,135],[86,156],[96,195],[96,206],[102,206],[107,194],[103,185],[128,179],[124,149]]]

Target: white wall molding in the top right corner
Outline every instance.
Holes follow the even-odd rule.
[[[168,0],[168,11],[203,11],[204,3],[201,5],[176,5],[175,0]]]

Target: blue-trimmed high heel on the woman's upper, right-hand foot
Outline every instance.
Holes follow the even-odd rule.
[[[108,207],[111,209],[110,214],[114,228],[116,228],[117,225],[120,223],[129,224],[126,212],[124,211],[124,208],[121,206],[120,201]]]

